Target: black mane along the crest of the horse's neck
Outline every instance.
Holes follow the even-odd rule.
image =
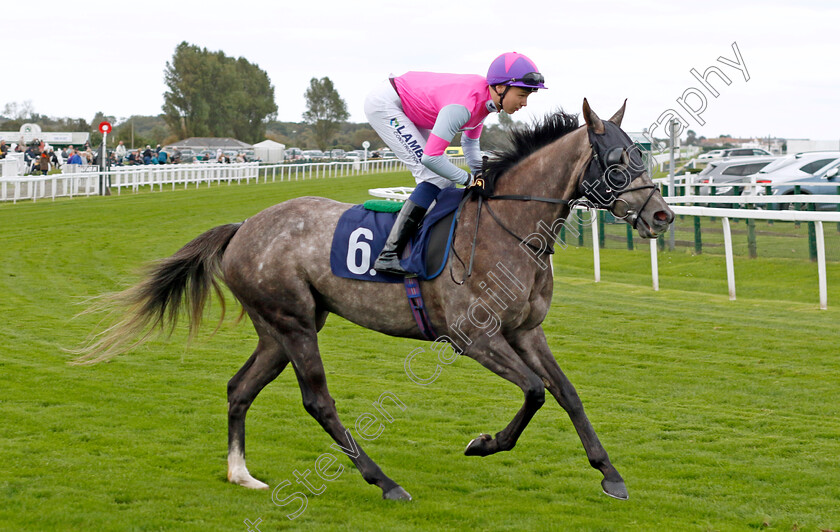
[[[508,146],[493,150],[484,169],[484,179],[489,190],[495,188],[496,179],[520,161],[578,128],[578,116],[562,110],[535,120],[530,126],[514,127],[508,132]]]

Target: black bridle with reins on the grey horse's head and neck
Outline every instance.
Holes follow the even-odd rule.
[[[627,134],[624,133],[624,131],[622,131],[621,128],[619,128],[617,125],[607,121],[604,122],[604,126],[605,131],[602,134],[593,133],[591,128],[588,128],[587,130],[589,133],[590,155],[589,159],[587,160],[587,164],[584,166],[583,170],[578,175],[577,198],[567,200],[564,198],[546,198],[541,196],[530,196],[523,194],[487,194],[484,190],[484,182],[481,179],[478,179],[476,181],[475,186],[470,187],[470,189],[468,189],[468,192],[464,194],[464,199],[461,200],[461,204],[458,206],[458,211],[460,212],[461,207],[463,207],[464,203],[468,201],[473,195],[477,196],[478,211],[476,213],[475,232],[473,234],[472,249],[470,251],[470,261],[469,265],[467,266],[467,271],[464,279],[460,282],[456,281],[454,275],[452,274],[452,266],[450,265],[449,267],[449,275],[452,278],[453,282],[455,282],[456,284],[463,284],[466,281],[466,278],[472,274],[473,261],[475,259],[476,242],[478,241],[478,227],[479,222],[481,220],[481,211],[483,207],[487,208],[487,213],[490,215],[491,218],[493,218],[493,220],[499,225],[499,227],[504,229],[505,232],[513,236],[516,240],[518,240],[520,244],[525,244],[538,254],[554,254],[553,245],[547,246],[545,248],[537,247],[528,240],[517,235],[512,229],[505,225],[505,223],[501,219],[499,219],[499,217],[490,207],[490,202],[485,202],[485,200],[538,201],[542,203],[550,203],[556,205],[568,205],[569,208],[573,208],[577,205],[580,205],[587,209],[605,209],[610,211],[610,213],[612,213],[613,216],[615,216],[616,218],[626,219],[626,221],[630,223],[633,229],[637,229],[637,225],[639,223],[639,220],[641,219],[642,211],[645,210],[645,207],[647,207],[647,204],[650,202],[651,198],[653,198],[653,195],[659,189],[653,183],[649,185],[639,185],[635,187],[630,186],[637,179],[640,179],[645,171],[644,166],[642,165],[641,155],[638,152],[638,148],[635,146],[635,144],[633,144],[633,142],[630,140]],[[602,140],[599,137],[605,137],[605,139]],[[621,140],[623,140],[624,142],[620,145],[612,144],[609,148],[604,147],[605,142],[610,141],[610,139],[613,139],[614,141],[614,137],[623,137],[621,138]],[[628,147],[631,149],[630,152],[628,152]],[[486,166],[486,157],[484,158],[484,163]],[[625,178],[624,186],[620,186],[621,183],[616,183],[615,180],[611,178],[614,174],[621,174],[621,176]],[[617,184],[619,186],[616,186]],[[635,192],[637,190],[647,189],[650,189],[650,194],[648,194],[648,197],[645,198],[644,203],[642,203],[642,206],[639,208],[638,211],[631,209],[630,204],[627,203],[626,200],[621,198],[621,196],[623,196],[624,194]],[[619,215],[616,212],[616,206],[619,202],[623,203],[626,206],[623,215]],[[461,262],[462,265],[464,265],[464,261],[461,260],[461,257],[458,256],[458,253],[455,251],[454,240],[451,246],[454,256]]]

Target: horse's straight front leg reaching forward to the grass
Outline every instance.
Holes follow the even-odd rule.
[[[607,451],[604,450],[598,435],[595,434],[592,423],[589,422],[589,418],[583,411],[583,403],[581,403],[575,387],[569,382],[569,379],[557,364],[554,355],[551,354],[542,327],[518,332],[509,340],[525,364],[543,379],[545,387],[569,414],[580,441],[583,443],[583,448],[586,450],[589,463],[604,475],[604,479],[601,481],[604,493],[616,499],[627,499],[627,487],[624,485],[624,479],[621,478],[621,475],[610,462]]]

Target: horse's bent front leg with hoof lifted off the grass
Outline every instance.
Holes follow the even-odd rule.
[[[525,403],[496,436],[482,434],[472,440],[464,454],[487,456],[499,451],[509,451],[516,445],[519,435],[545,402],[545,389],[540,378],[519,358],[516,351],[501,334],[484,337],[481,342],[470,346],[464,354],[476,360],[496,375],[519,386],[525,394]]]

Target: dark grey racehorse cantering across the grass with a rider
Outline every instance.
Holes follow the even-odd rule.
[[[466,454],[511,450],[545,401],[547,389],[571,418],[589,463],[602,472],[604,492],[618,499],[628,497],[624,480],[552,355],[541,324],[554,284],[546,257],[553,253],[553,238],[573,201],[586,196],[609,208],[643,238],[663,233],[673,220],[647,173],[627,171],[640,159],[630,156],[633,145],[620,131],[625,105],[607,121],[611,124],[584,100],[585,126],[559,112],[514,132],[511,147],[487,164],[492,194],[465,201],[461,208],[449,274],[420,283],[439,340],[524,394],[524,404],[510,423],[495,436],[481,434],[469,442]],[[610,138],[610,132],[623,140],[602,145],[600,139]],[[625,181],[604,181],[608,166],[624,171]],[[603,186],[593,188],[590,174],[598,174]],[[612,196],[605,200],[605,194]],[[215,291],[221,298],[223,283],[259,337],[251,357],[228,382],[228,480],[268,488],[245,466],[245,416],[260,390],[291,362],[306,411],[338,446],[354,450],[347,454],[362,477],[378,486],[385,499],[410,499],[342,425],[318,351],[318,331],[331,312],[384,334],[422,339],[401,285],[332,274],[332,234],[349,207],[325,198],[296,198],[245,222],[210,229],[154,264],[139,284],[111,296],[109,305],[122,309],[123,317],[80,350],[75,362],[96,363],[136,346],[158,328],[171,331],[182,312],[195,331],[208,296]]]

